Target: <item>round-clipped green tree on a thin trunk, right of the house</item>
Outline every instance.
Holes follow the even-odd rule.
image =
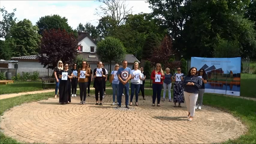
[[[110,36],[98,42],[96,54],[102,62],[107,62],[111,65],[111,63],[119,63],[124,60],[126,51],[119,39]]]

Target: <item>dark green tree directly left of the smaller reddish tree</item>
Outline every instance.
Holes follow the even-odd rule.
[[[149,60],[152,57],[154,50],[160,47],[160,39],[155,33],[150,33],[145,40],[145,43],[142,47],[141,58],[144,60]]]

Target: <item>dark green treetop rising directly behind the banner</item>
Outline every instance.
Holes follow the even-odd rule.
[[[230,58],[238,57],[241,54],[241,46],[238,41],[219,40],[219,44],[214,48],[214,57]]]

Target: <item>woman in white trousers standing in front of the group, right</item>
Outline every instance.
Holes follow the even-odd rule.
[[[189,72],[188,76],[186,76],[183,80],[183,87],[184,87],[184,97],[185,102],[188,110],[188,121],[192,121],[195,113],[195,104],[198,98],[199,89],[202,86],[202,80],[200,77],[196,75],[197,69],[192,67]]]

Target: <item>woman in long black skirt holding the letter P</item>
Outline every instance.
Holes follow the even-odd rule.
[[[70,79],[73,78],[73,72],[68,69],[68,63],[64,63],[64,70],[60,72],[59,78],[60,78],[60,86],[59,86],[59,92],[60,92],[60,103],[61,104],[68,104],[71,102],[71,81]],[[64,80],[64,77],[62,76],[63,72],[67,72],[67,75],[64,75],[64,77],[67,77],[67,80]]]

